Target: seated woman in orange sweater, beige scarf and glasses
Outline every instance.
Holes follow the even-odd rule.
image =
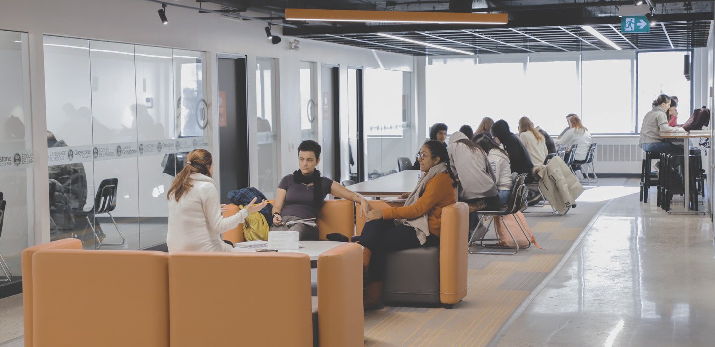
[[[422,177],[405,206],[368,212],[360,244],[363,245],[365,309],[382,307],[385,256],[400,251],[440,243],[442,209],[457,201],[457,181],[447,149],[439,141],[425,142],[417,154]]]

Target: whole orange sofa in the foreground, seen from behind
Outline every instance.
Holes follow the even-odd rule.
[[[300,253],[24,250],[25,346],[363,346],[362,249]],[[322,328],[318,328],[318,327]]]

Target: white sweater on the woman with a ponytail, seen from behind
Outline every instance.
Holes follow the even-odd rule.
[[[231,251],[221,234],[243,223],[248,211],[242,209],[223,218],[216,182],[202,174],[191,174],[194,186],[179,201],[169,197],[169,253],[182,251]]]

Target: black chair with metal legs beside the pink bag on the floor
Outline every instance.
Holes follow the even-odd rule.
[[[526,187],[526,184],[524,184],[524,180],[526,180],[526,174],[521,174],[521,175],[515,176],[513,178],[513,186],[511,188],[511,193],[509,194],[509,200],[508,200],[506,207],[504,207],[498,211],[485,211],[485,210],[478,211],[478,213],[480,213],[481,217],[479,218],[479,221],[477,222],[477,226],[474,228],[474,232],[472,233],[472,236],[470,237],[469,242],[467,243],[467,251],[470,254],[516,254],[519,251],[519,249],[523,249],[523,248],[520,248],[519,244],[516,242],[516,238],[514,238],[514,235],[511,232],[511,229],[506,224],[506,221],[504,221],[504,217],[508,216],[510,214],[516,213],[518,211],[521,211],[521,209],[526,207],[526,191],[528,190],[528,188]],[[478,230],[480,225],[483,225],[483,223],[484,223],[483,218],[485,216],[492,216],[492,218],[486,226],[485,233],[478,236],[476,231]],[[493,219],[497,218],[497,217],[501,218],[501,221],[504,223],[504,226],[506,227],[506,231],[509,233],[509,236],[511,236],[511,239],[514,241],[514,244],[516,245],[516,247],[511,248],[511,247],[497,246],[496,243],[484,244],[484,241],[499,241],[498,238],[484,238],[484,236],[486,236],[487,232],[489,231],[489,227],[491,226]],[[521,228],[521,232],[528,239],[528,236],[526,236],[526,231],[524,230],[523,226],[521,225],[521,222],[518,221],[518,218],[517,218],[517,223],[519,224],[519,228]],[[473,241],[475,236],[479,237],[479,244],[476,244],[476,242]],[[476,247],[476,246],[479,246],[481,248],[511,248],[514,251],[513,252],[472,251],[471,247]],[[529,246],[531,246],[531,244]],[[529,246],[526,246],[524,248],[529,248]]]

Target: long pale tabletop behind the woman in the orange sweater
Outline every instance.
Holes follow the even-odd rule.
[[[385,196],[399,196],[402,193],[410,193],[417,186],[419,181],[419,170],[403,170],[396,174],[375,178],[371,181],[347,186],[347,190],[363,194],[372,198],[383,198]]]

